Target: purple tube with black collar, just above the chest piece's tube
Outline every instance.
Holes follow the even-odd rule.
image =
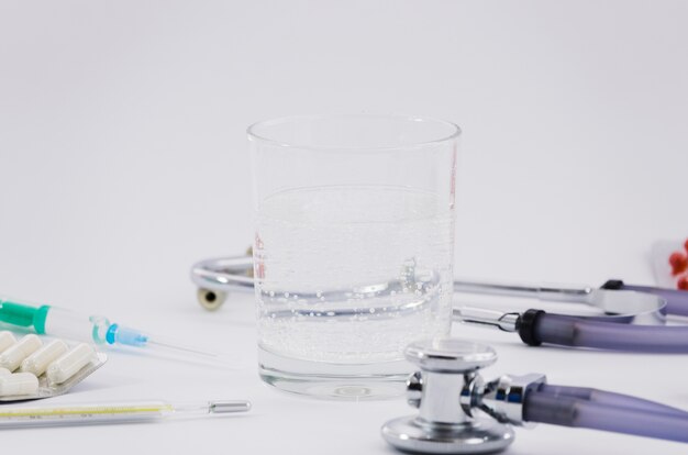
[[[601,322],[586,318],[529,310],[517,323],[521,340],[531,345],[639,353],[688,353],[688,326],[656,326]]]

